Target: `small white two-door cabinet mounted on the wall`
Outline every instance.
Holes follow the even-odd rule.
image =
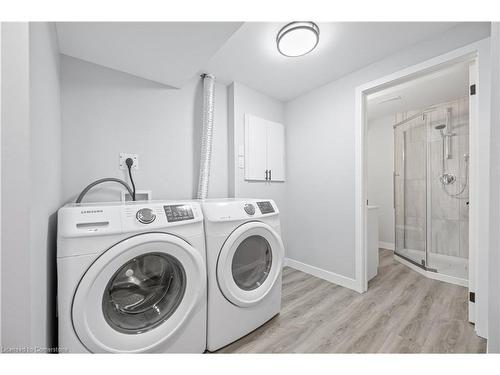
[[[285,127],[245,114],[245,180],[285,181]]]

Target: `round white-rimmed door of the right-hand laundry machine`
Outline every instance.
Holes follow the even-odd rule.
[[[248,222],[227,238],[217,261],[217,281],[233,304],[258,304],[271,291],[283,266],[280,236],[267,224]]]

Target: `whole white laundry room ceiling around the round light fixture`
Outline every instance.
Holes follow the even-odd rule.
[[[80,22],[57,23],[57,31],[61,53],[72,57],[173,87],[210,72],[287,101],[459,23],[319,23],[318,47],[297,58],[277,51],[284,24]]]

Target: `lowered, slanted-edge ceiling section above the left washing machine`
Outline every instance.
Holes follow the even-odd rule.
[[[192,79],[241,22],[59,22],[60,52],[173,87]]]

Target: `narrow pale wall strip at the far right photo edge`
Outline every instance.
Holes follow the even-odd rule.
[[[488,352],[500,352],[500,24],[491,28],[491,180]]]

